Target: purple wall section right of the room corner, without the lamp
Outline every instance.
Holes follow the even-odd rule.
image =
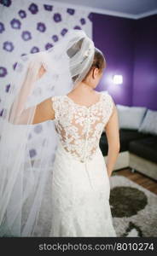
[[[157,15],[137,20],[133,105],[157,110]]]

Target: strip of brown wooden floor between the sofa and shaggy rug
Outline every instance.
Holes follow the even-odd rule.
[[[140,172],[131,172],[130,168],[114,171],[116,175],[122,175],[131,179],[131,181],[141,185],[143,188],[148,189],[157,195],[157,182],[149,177],[142,175]]]

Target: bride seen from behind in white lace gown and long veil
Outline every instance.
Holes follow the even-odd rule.
[[[101,50],[74,30],[18,62],[0,130],[1,236],[116,236],[109,177],[118,114],[112,96],[95,90],[105,67]]]

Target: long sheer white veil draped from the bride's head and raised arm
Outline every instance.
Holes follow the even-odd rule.
[[[69,30],[54,47],[23,55],[17,62],[9,92],[1,96],[0,236],[49,236],[58,137],[53,120],[40,125],[32,120],[40,102],[66,95],[84,79],[94,52],[84,31]],[[46,72],[38,78],[42,65]]]

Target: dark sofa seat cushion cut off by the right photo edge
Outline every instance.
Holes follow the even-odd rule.
[[[129,151],[144,159],[157,163],[157,136],[131,142],[129,144]]]

